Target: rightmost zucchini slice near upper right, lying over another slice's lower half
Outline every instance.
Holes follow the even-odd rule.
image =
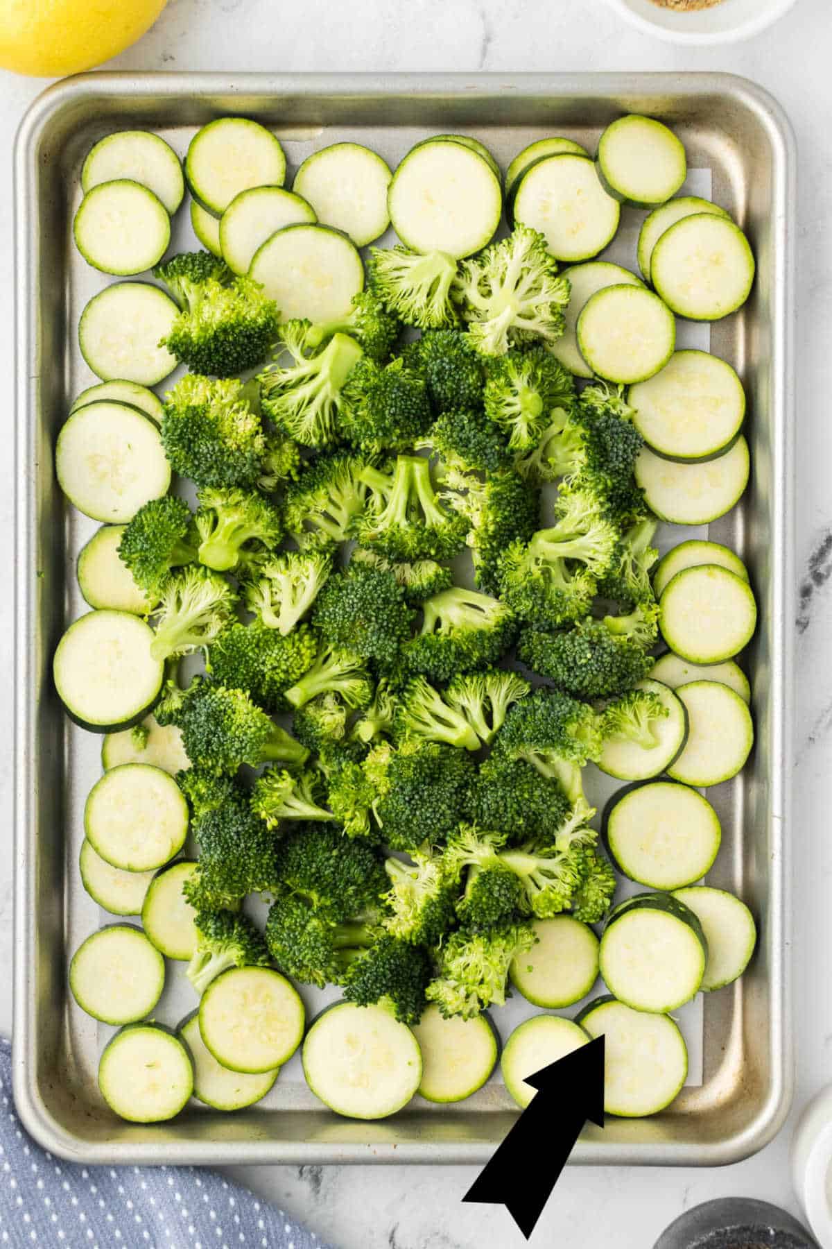
[[[753,275],[753,252],[742,230],[712,212],[665,230],[650,260],[656,292],[689,321],[718,321],[736,312],[748,299]]]

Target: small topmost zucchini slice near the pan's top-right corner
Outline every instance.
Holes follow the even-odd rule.
[[[597,144],[597,167],[610,195],[636,209],[665,204],[687,177],[682,141],[661,121],[637,112],[606,127]]]

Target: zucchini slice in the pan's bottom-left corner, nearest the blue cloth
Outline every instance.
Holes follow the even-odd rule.
[[[130,1123],[163,1123],[193,1092],[193,1063],[182,1042],[160,1024],[131,1024],[116,1033],[99,1063],[101,1095]]]

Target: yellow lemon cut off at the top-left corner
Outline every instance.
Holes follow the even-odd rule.
[[[0,0],[0,66],[59,77],[135,44],[167,0]]]

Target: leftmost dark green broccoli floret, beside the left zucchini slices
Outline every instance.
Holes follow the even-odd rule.
[[[193,516],[183,498],[151,498],[123,528],[119,558],[137,586],[157,595],[171,568],[196,560]]]

